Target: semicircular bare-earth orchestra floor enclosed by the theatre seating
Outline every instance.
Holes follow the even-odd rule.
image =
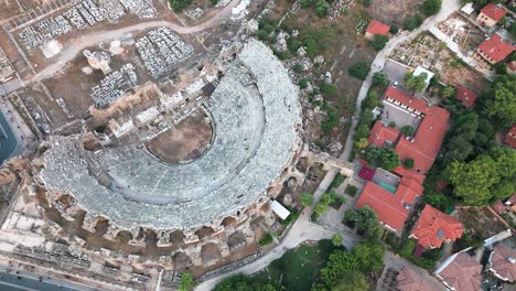
[[[212,141],[212,126],[202,110],[147,143],[151,152],[168,162],[186,162],[202,155]]]

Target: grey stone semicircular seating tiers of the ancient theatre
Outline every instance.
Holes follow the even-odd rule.
[[[53,137],[40,177],[89,215],[119,226],[189,229],[240,211],[289,166],[300,138],[298,88],[272,52],[249,41],[204,105],[212,147],[190,163],[165,163],[144,148],[88,152],[80,137]],[[108,174],[106,187],[92,175]]]

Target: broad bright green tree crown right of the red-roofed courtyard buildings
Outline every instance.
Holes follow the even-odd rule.
[[[453,193],[469,205],[485,205],[492,198],[490,187],[499,182],[496,162],[486,154],[452,162],[447,170]]]

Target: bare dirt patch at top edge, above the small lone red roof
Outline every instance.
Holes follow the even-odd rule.
[[[373,19],[401,28],[405,19],[420,11],[423,0],[374,0],[367,9]]]

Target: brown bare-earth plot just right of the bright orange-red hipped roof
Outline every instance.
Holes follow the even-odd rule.
[[[506,229],[487,207],[458,209],[453,216],[464,224],[464,228],[482,238],[488,238]]]

